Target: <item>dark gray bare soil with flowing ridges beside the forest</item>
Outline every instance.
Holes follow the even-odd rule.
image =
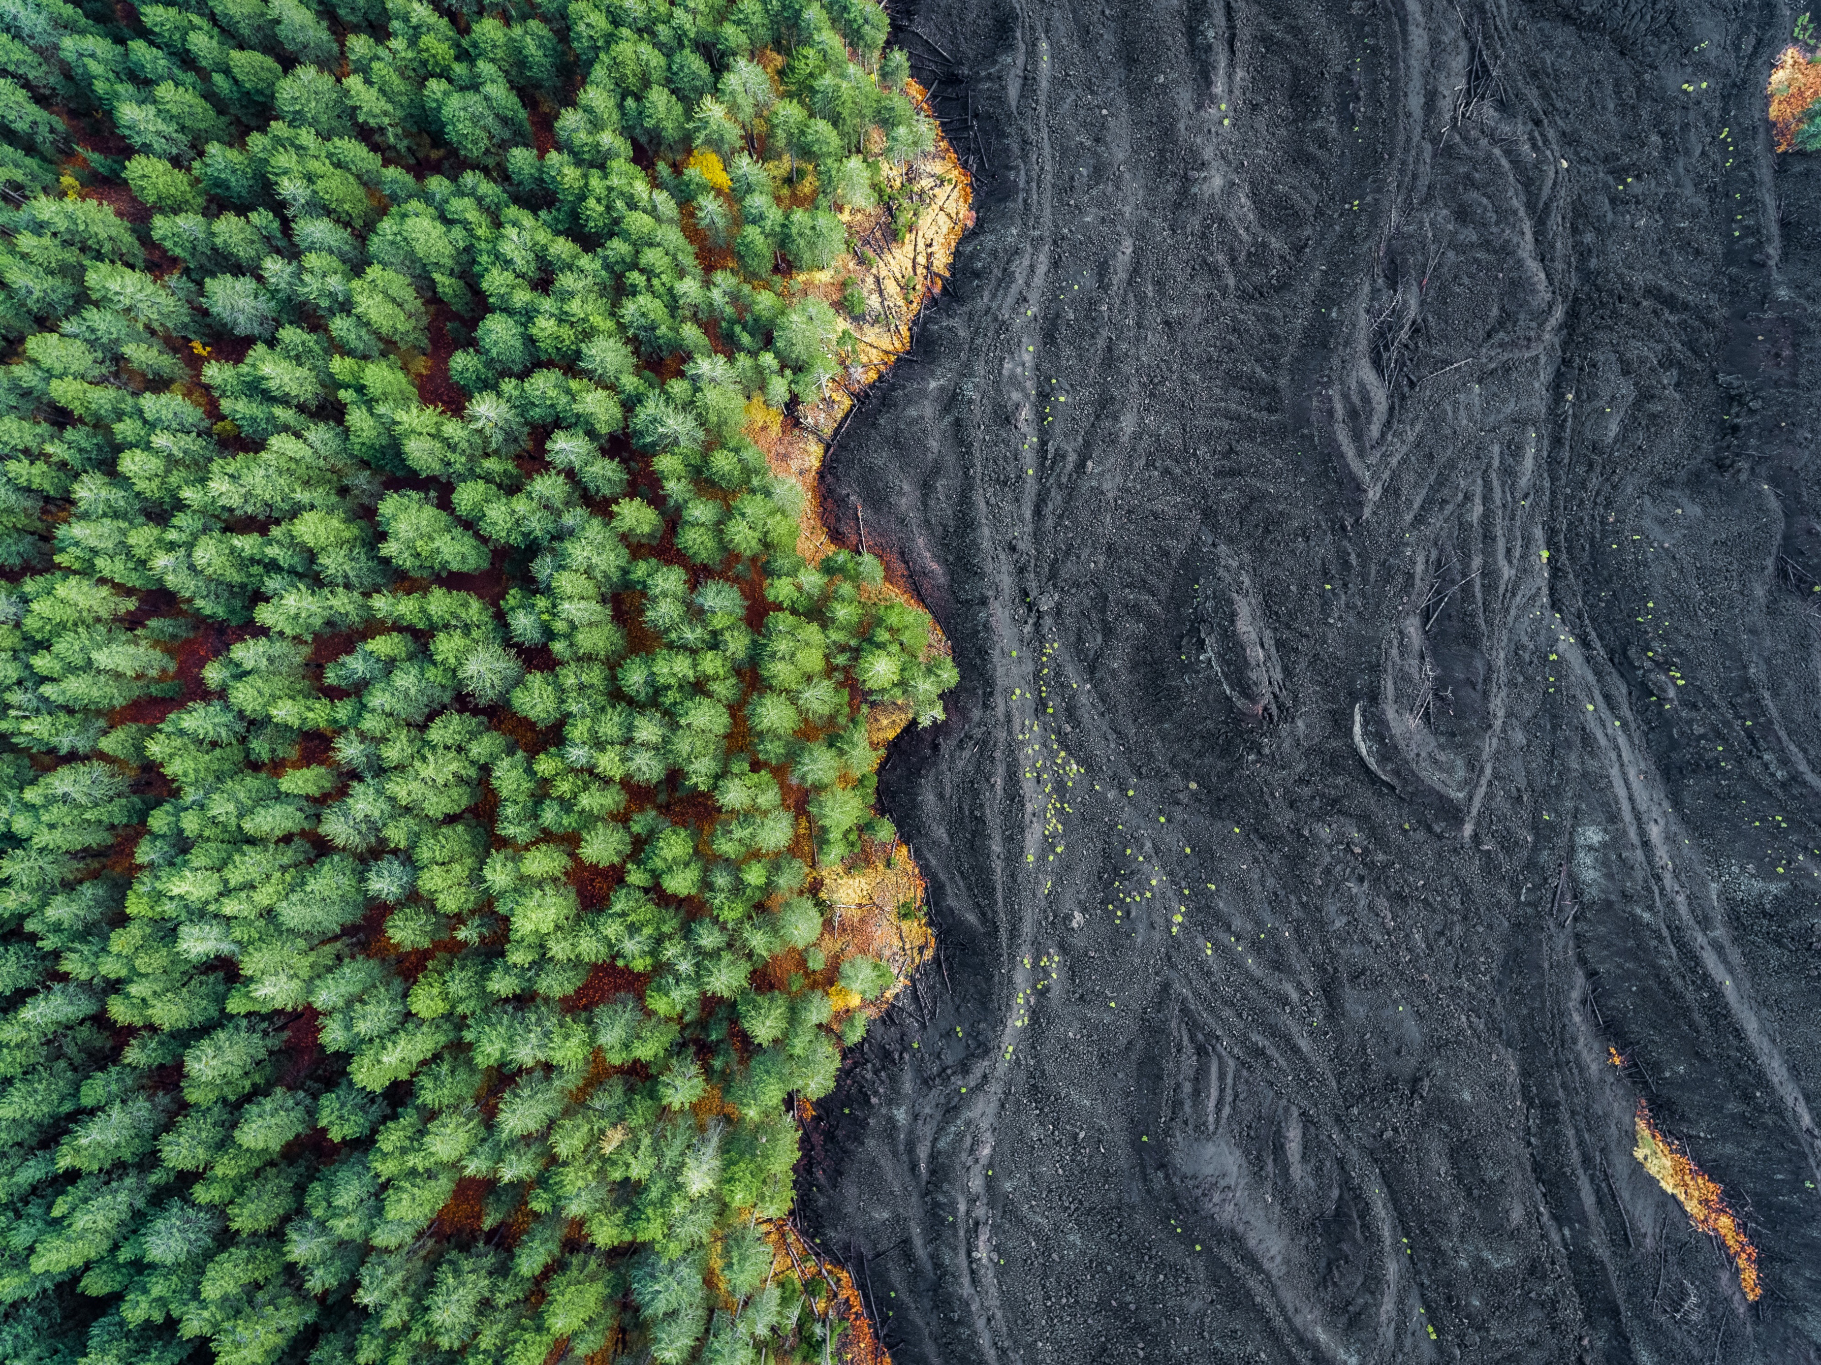
[[[898,1365],[1821,1360],[1790,9],[894,18],[980,224],[825,493],[961,668],[943,950],[801,1181]]]

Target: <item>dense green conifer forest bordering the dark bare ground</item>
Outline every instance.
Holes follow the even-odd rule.
[[[0,4],[7,1361],[829,1352],[821,875],[956,672],[752,433],[936,140],[887,27]]]

